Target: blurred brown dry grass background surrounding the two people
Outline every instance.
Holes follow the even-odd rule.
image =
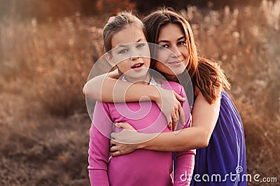
[[[102,27],[119,10],[162,5],[188,17],[200,55],[232,83],[247,172],[279,184],[280,0],[0,0],[0,185],[90,184],[82,89]]]

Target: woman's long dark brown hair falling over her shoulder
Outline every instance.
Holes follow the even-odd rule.
[[[160,29],[164,25],[179,25],[188,41],[190,60],[186,70],[190,75],[193,87],[198,87],[209,103],[214,103],[217,97],[220,96],[215,94],[215,87],[223,85],[223,87],[230,88],[227,78],[225,78],[224,73],[216,62],[198,57],[193,31],[181,13],[172,8],[161,8],[144,17],[143,23],[146,27],[147,41],[149,43],[158,42]]]

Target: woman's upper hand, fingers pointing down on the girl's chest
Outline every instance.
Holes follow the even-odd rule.
[[[185,113],[179,101],[186,101],[186,98],[183,98],[173,90],[165,90],[158,87],[160,92],[160,97],[155,101],[162,113],[167,117],[168,128],[175,129],[179,120],[184,124]]]

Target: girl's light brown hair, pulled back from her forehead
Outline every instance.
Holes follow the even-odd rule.
[[[113,35],[130,25],[142,29],[144,35],[146,36],[144,24],[131,12],[120,12],[118,15],[116,15],[116,17],[110,17],[102,32],[104,52],[109,52],[109,50],[112,49],[111,41]]]

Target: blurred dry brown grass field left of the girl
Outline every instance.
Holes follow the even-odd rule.
[[[1,22],[0,185],[88,185],[82,88],[103,24],[79,13]]]

